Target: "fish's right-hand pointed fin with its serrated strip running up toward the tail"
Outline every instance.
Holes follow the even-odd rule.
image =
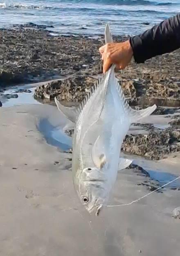
[[[118,82],[118,79],[116,79],[116,87],[117,87],[117,91],[119,93],[119,98],[120,98],[122,107],[124,109],[124,112],[130,118],[130,123],[138,122],[142,118],[150,116],[151,113],[153,113],[153,111],[155,111],[155,109],[157,108],[157,106],[154,104],[153,106],[149,106],[146,109],[142,109],[142,110],[138,110],[138,111],[135,109],[132,109],[129,106],[128,101],[126,100],[126,98],[124,96],[123,90],[121,88],[121,85]]]

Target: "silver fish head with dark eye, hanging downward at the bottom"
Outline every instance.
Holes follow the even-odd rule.
[[[79,176],[79,186],[76,191],[89,213],[95,211],[96,215],[99,215],[99,211],[108,200],[109,183],[106,168],[107,166],[101,169],[84,168]]]

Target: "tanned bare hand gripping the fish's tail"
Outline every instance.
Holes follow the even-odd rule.
[[[103,60],[103,73],[108,71],[112,64],[116,64],[117,69],[124,69],[133,57],[133,50],[129,40],[121,43],[107,43],[99,48]]]

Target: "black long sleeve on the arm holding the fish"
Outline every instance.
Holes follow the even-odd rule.
[[[130,37],[136,63],[180,48],[180,14],[164,20],[139,36]]]

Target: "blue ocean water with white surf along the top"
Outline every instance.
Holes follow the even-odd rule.
[[[180,12],[180,0],[0,0],[0,28],[36,23],[58,34],[134,35]]]

